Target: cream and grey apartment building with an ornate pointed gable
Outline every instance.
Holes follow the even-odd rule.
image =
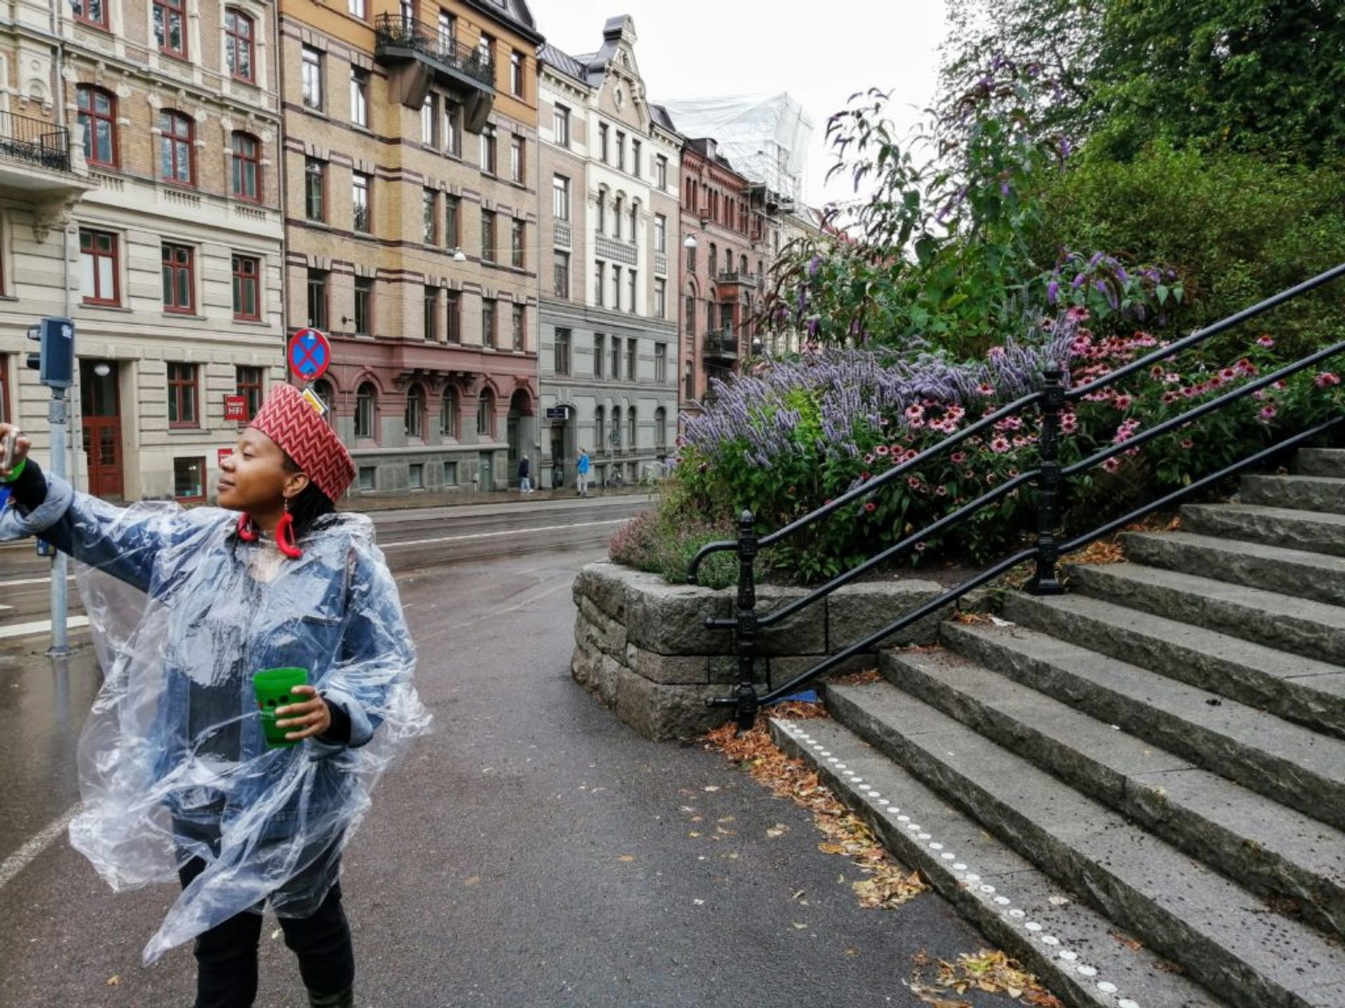
[[[593,54],[542,50],[543,487],[662,472],[677,438],[681,137],[648,103],[628,16]],[[561,464],[557,472],[557,462]]]

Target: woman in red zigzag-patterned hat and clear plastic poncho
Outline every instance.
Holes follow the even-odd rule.
[[[89,566],[79,583],[105,671],[71,844],[117,890],[176,874],[182,895],[145,961],[196,938],[196,1008],[253,1004],[265,905],[309,1004],[352,1005],[340,851],[429,716],[373,526],[332,507],[355,476],[350,453],[288,384],[221,461],[221,508],[116,508],[27,450],[20,437],[0,472],[0,540],[38,535]],[[268,747],[253,673],[282,667],[311,685],[276,710],[297,745]]]

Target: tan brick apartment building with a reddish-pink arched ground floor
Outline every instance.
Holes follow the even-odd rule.
[[[355,493],[498,489],[535,462],[538,78],[522,0],[281,0],[288,332]]]

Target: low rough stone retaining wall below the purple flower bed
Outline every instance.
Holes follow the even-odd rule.
[[[890,624],[943,589],[931,581],[846,585],[779,626],[757,646],[757,676],[780,684]],[[668,585],[656,574],[611,562],[590,563],[574,579],[574,656],[570,672],[590,694],[642,735],[691,738],[728,722],[732,708],[707,708],[709,696],[728,696],[737,683],[733,632],[709,630],[706,617],[733,616],[737,589]],[[765,616],[803,589],[761,587],[757,612]],[[885,641],[932,644],[935,614]],[[838,672],[872,668],[855,656]]]

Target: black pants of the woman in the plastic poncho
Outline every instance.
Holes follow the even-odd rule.
[[[206,870],[192,857],[178,876],[186,888]],[[355,952],[340,905],[340,883],[332,884],[312,917],[281,917],[285,945],[299,957],[304,985],[335,995],[355,982]],[[250,1008],[257,999],[257,942],[261,914],[243,911],[196,938],[196,1008]]]

